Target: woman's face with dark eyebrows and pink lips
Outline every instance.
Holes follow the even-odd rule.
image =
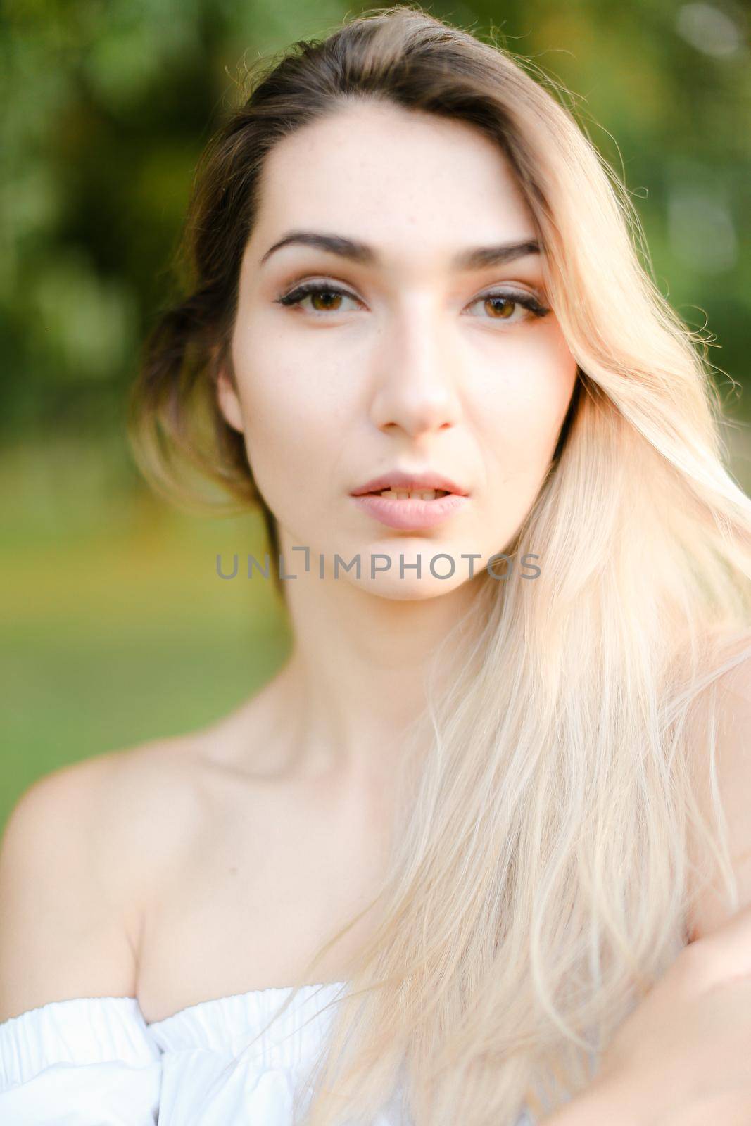
[[[539,253],[457,260],[535,240],[511,169],[463,123],[365,102],[278,143],[260,196],[232,340],[238,394],[224,376],[218,393],[279,524],[286,572],[304,570],[298,546],[314,577],[322,562],[332,579],[337,554],[359,557],[359,578],[340,563],[338,581],[387,598],[454,590],[529,511],[576,377],[555,314],[522,304],[548,309]],[[272,249],[301,232],[366,250]],[[307,283],[320,292],[301,294]],[[430,526],[417,510],[439,501],[352,497],[397,470],[440,474],[466,495]],[[433,574],[436,555],[448,558]]]

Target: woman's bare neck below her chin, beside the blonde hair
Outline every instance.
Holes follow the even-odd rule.
[[[277,678],[277,701],[295,717],[297,762],[370,779],[399,758],[406,730],[424,712],[431,659],[468,610],[473,583],[393,599],[341,575],[320,579],[313,558],[309,573],[296,573],[286,583],[294,647]],[[441,665],[439,678],[450,676]]]

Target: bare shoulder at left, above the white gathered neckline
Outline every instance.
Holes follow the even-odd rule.
[[[142,904],[200,804],[190,736],[61,767],[0,842],[0,1021],[50,1001],[133,997]]]

